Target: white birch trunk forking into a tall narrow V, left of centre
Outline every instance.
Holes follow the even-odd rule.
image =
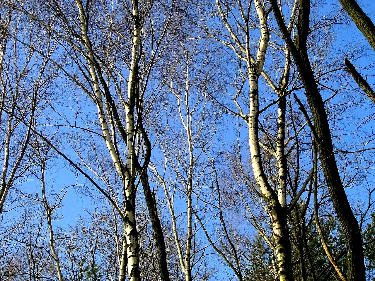
[[[87,36],[87,18],[85,10],[81,0],[76,0],[77,7],[79,10],[80,21],[81,21],[81,32],[82,40],[86,47],[86,60],[89,64],[90,76],[95,90],[95,103],[98,108],[99,121],[101,124],[102,133],[107,145],[107,149],[111,155],[113,164],[123,180],[123,191],[124,191],[124,232],[126,233],[126,258],[127,258],[127,270],[129,281],[139,281],[139,244],[138,244],[138,233],[136,230],[135,220],[135,152],[134,152],[134,105],[135,105],[135,94],[138,89],[138,49],[139,49],[139,15],[138,15],[138,1],[133,0],[133,46],[132,46],[132,60],[129,70],[129,82],[128,82],[128,100],[125,102],[124,107],[126,111],[126,145],[127,145],[127,160],[126,167],[123,169],[121,165],[120,157],[117,153],[117,149],[114,146],[108,123],[105,117],[105,111],[102,101],[102,89],[99,84],[98,75],[95,69],[95,57],[93,55],[92,44],[89,37]],[[125,244],[124,244],[125,245]],[[124,265],[124,255],[121,258],[121,265]],[[120,265],[120,268],[121,268]],[[120,272],[120,278],[124,277],[124,266],[122,266]],[[123,280],[123,279],[122,279]]]

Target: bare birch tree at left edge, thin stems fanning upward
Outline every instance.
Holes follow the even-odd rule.
[[[1,21],[5,24],[0,30],[0,124],[3,132],[0,213],[11,205],[6,203],[7,195],[20,176],[27,172],[29,164],[24,161],[24,156],[32,135],[32,120],[38,103],[45,99],[45,92],[51,84],[47,66],[55,48],[48,35],[34,30],[33,25],[31,28],[24,25],[22,13],[4,4],[1,6]],[[45,56],[20,43],[20,37],[34,48],[45,44],[42,49]],[[22,141],[18,137],[20,133],[23,134]]]

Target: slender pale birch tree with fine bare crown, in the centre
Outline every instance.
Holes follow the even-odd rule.
[[[204,278],[199,270],[203,268],[205,247],[196,237],[195,217],[210,170],[210,161],[204,155],[214,146],[220,114],[205,100],[206,92],[217,88],[211,73],[214,67],[207,63],[211,54],[208,45],[187,34],[176,40],[179,47],[170,56],[164,74],[169,100],[165,104],[166,122],[160,123],[156,132],[163,158],[150,167],[154,181],[165,193],[181,272],[186,281],[191,281]],[[179,203],[179,196],[183,196],[183,203]],[[181,214],[183,222],[178,220]]]

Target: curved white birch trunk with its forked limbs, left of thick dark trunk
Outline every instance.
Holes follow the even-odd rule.
[[[249,116],[246,121],[248,125],[249,133],[249,146],[251,154],[251,164],[254,172],[255,181],[261,192],[261,195],[266,202],[267,212],[271,218],[271,225],[273,231],[273,239],[275,241],[276,248],[276,259],[278,262],[278,274],[280,281],[291,281],[293,280],[293,269],[291,262],[291,249],[289,233],[287,229],[287,212],[286,206],[286,191],[285,191],[285,179],[286,179],[286,167],[285,167],[285,156],[284,156],[284,135],[285,135],[285,105],[284,100],[281,99],[279,103],[279,119],[278,119],[278,148],[277,148],[277,160],[279,165],[279,186],[278,193],[276,193],[270,186],[266,174],[264,173],[262,157],[260,151],[260,144],[258,138],[258,121],[259,121],[259,90],[258,90],[258,78],[263,71],[263,65],[266,58],[266,51],[269,43],[269,29],[267,26],[267,13],[263,9],[262,1],[255,0],[255,9],[258,14],[261,27],[261,36],[258,45],[257,58],[254,60],[250,54],[250,37],[249,37],[249,18],[246,17],[245,13],[242,13],[243,20],[246,23],[246,46],[242,45],[240,39],[236,36],[232,27],[230,26],[227,15],[223,12],[220,1],[216,1],[219,14],[222,18],[225,27],[228,29],[228,33],[236,43],[240,51],[246,56],[246,63],[248,66],[248,79],[249,79]],[[250,6],[249,6],[250,7]],[[293,10],[295,13],[295,9]],[[294,16],[294,15],[293,15]],[[236,52],[240,60],[243,59],[243,55]],[[287,58],[288,59],[288,58]],[[287,65],[287,63],[286,63]],[[288,75],[288,67],[286,67],[286,73]],[[285,76],[287,79],[288,76]],[[267,80],[267,79],[266,79]],[[286,80],[287,81],[287,80]],[[282,81],[284,82],[284,81]],[[287,85],[287,83],[282,83]],[[284,86],[284,88],[285,88]],[[280,89],[276,89],[278,95]],[[281,92],[281,95],[284,94]],[[240,112],[242,110],[240,109]]]

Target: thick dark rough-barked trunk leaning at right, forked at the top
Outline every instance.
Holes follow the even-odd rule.
[[[314,119],[315,131],[317,134],[318,152],[324,177],[331,196],[333,207],[338,215],[339,222],[344,232],[347,245],[348,258],[348,280],[365,280],[365,263],[363,258],[362,236],[358,221],[353,214],[348,198],[345,194],[337,167],[333,143],[328,123],[324,102],[315,82],[314,73],[309,61],[307,52],[307,36],[310,19],[310,1],[300,1],[300,12],[297,24],[297,46],[290,37],[290,33],[285,27],[276,0],[270,0],[275,13],[276,21],[285,41],[293,55],[300,78],[303,82],[306,98],[309,103],[312,117]]]

